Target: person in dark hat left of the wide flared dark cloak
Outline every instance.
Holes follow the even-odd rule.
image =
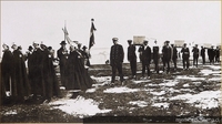
[[[59,68],[60,68],[60,75],[61,75],[61,84],[63,86],[67,85],[67,75],[68,75],[68,68],[67,68],[67,60],[68,60],[68,50],[65,48],[65,41],[62,41],[61,48],[57,51],[57,56],[59,59]]]

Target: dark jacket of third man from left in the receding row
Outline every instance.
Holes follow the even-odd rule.
[[[152,59],[151,48],[150,46],[144,48],[144,45],[142,45],[140,48],[140,52],[142,52],[142,54],[141,54],[142,63],[150,64],[150,61]]]

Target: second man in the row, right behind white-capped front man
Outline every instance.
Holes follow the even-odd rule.
[[[130,68],[132,72],[132,79],[137,78],[137,55],[135,55],[135,45],[132,44],[132,40],[128,40],[128,61],[130,62]]]

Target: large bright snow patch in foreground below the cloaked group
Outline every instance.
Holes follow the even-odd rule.
[[[108,113],[112,110],[100,110],[98,107],[99,103],[92,99],[84,99],[78,96],[77,99],[61,99],[58,101],[50,102],[49,105],[52,105],[54,108],[59,108],[68,114],[72,114],[78,117],[83,116],[93,116],[97,113]]]

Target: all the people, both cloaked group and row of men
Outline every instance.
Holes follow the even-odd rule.
[[[113,45],[110,50],[110,65],[112,69],[111,85],[115,82],[117,70],[120,75],[120,81],[124,83],[122,63],[124,59],[124,50],[121,44],[118,43],[119,39],[113,38]],[[137,78],[137,54],[135,45],[132,40],[128,40],[128,61],[130,62],[130,69],[132,76]],[[61,48],[57,51],[57,58],[54,58],[54,50],[52,46],[33,42],[29,46],[27,53],[22,53],[22,48],[17,44],[12,44],[10,48],[3,44],[3,56],[1,61],[1,102],[4,103],[7,99],[11,97],[16,103],[26,102],[27,100],[43,100],[51,101],[53,96],[61,97],[60,85],[63,85],[65,90],[73,92],[73,96],[80,91],[85,91],[92,86],[92,79],[88,73],[90,66],[90,54],[87,51],[87,46],[82,46],[78,43],[77,48],[70,44],[67,49],[65,41],[61,41]],[[210,64],[220,62],[220,48],[210,49],[201,46],[199,50],[198,44],[193,46],[193,66],[198,68],[199,55],[202,56],[202,63],[205,64],[205,50],[208,50],[208,56]],[[181,51],[178,51],[174,44],[170,45],[170,41],[165,41],[164,45],[160,48],[158,42],[154,41],[154,45],[149,46],[149,41],[144,40],[140,45],[139,59],[142,63],[142,78],[150,79],[151,71],[150,64],[153,60],[154,73],[160,73],[160,61],[163,63],[162,71],[167,74],[171,70],[178,69],[178,58],[182,54],[183,70],[190,69],[190,50],[186,43],[182,46]],[[161,54],[162,52],[162,54]],[[27,61],[27,64],[26,64]],[[59,83],[54,61],[59,61],[60,81]],[[173,68],[171,68],[173,62]]]

